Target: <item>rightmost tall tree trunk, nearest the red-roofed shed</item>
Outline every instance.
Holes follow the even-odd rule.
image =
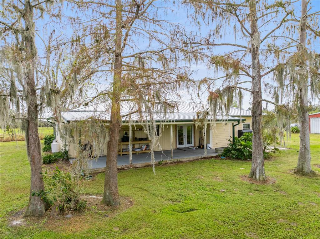
[[[304,70],[306,66],[307,54],[306,46],[306,24],[307,24],[307,7],[306,0],[301,1],[301,19],[299,23],[299,46],[298,51],[301,54],[301,65],[299,73],[299,107],[298,114],[300,120],[300,149],[298,157],[298,165],[294,169],[297,174],[308,175],[313,173],[311,170],[311,154],[310,154],[310,138],[309,138],[309,114],[308,114],[308,73]]]

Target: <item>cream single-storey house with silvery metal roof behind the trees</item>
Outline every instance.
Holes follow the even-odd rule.
[[[196,123],[197,114],[208,109],[208,104],[200,104],[194,102],[178,102],[173,110],[155,109],[154,120],[157,125],[158,144],[155,146],[155,151],[171,150],[171,158],[173,158],[173,149],[187,148],[187,147],[201,147],[203,154],[206,155],[207,144],[212,148],[226,147],[229,139],[237,136],[238,130],[251,129],[251,111],[232,107],[229,116],[217,114],[216,125],[214,128],[210,125],[210,118],[205,125]],[[81,121],[89,118],[99,119],[101,123],[108,127],[108,120],[110,120],[110,105],[108,103],[99,103],[81,108],[76,108],[69,111],[61,112],[62,122],[70,123],[74,121]],[[141,152],[130,150],[132,148],[140,148],[143,145],[149,145],[150,140],[147,134],[143,131],[142,124],[145,120],[141,120],[141,114],[130,112],[135,111],[135,106],[129,103],[121,104],[121,115],[124,115],[122,127],[119,137],[118,149],[119,155],[134,154],[141,152],[148,152],[148,148]],[[143,112],[144,119],[148,121],[148,114]],[[54,117],[48,118],[52,121]],[[129,121],[130,119],[130,121]],[[129,123],[130,122],[130,123]],[[56,129],[58,129],[57,122]],[[76,139],[77,136],[85,134],[83,130],[76,129],[73,134]],[[58,142],[62,143],[59,130],[55,130],[55,137]],[[90,142],[90,137],[86,138]],[[74,141],[68,141],[69,153],[71,157],[77,157],[77,145]],[[107,145],[94,146],[92,149],[93,155],[106,155]]]

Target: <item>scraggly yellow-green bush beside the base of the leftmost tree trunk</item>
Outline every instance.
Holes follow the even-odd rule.
[[[33,191],[32,195],[43,198],[49,206],[53,207],[53,211],[69,213],[86,207],[86,202],[80,198],[78,178],[69,172],[63,172],[56,167],[52,175],[45,171],[43,180],[46,191]]]

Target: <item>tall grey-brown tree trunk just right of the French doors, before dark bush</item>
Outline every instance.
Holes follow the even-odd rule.
[[[251,59],[252,59],[252,166],[249,177],[266,180],[263,161],[262,143],[262,93],[260,72],[260,32],[257,25],[257,9],[255,0],[249,2],[251,26]]]

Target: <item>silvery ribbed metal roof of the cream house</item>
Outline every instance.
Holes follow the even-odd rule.
[[[197,118],[197,113],[207,110],[208,104],[194,103],[194,102],[172,102],[174,107],[162,108],[160,105],[154,107],[154,120],[156,121],[193,121]],[[68,121],[85,120],[88,118],[95,118],[100,120],[110,120],[110,108],[109,102],[97,103],[89,106],[75,108],[68,111],[62,111],[61,116]],[[130,112],[136,111],[138,108],[132,102],[121,102],[121,115],[130,114]],[[238,117],[237,117],[238,116]],[[231,107],[229,116],[227,117],[223,112],[217,114],[216,120],[218,121],[238,121],[241,116],[251,116],[250,110]],[[240,118],[239,118],[240,117]],[[51,117],[52,118],[52,117]],[[130,115],[131,120],[141,121],[150,120],[148,112],[141,110],[140,113],[133,113]],[[123,121],[129,120],[129,116],[124,116]],[[210,118],[208,118],[210,120]],[[244,120],[244,119],[242,119]]]

